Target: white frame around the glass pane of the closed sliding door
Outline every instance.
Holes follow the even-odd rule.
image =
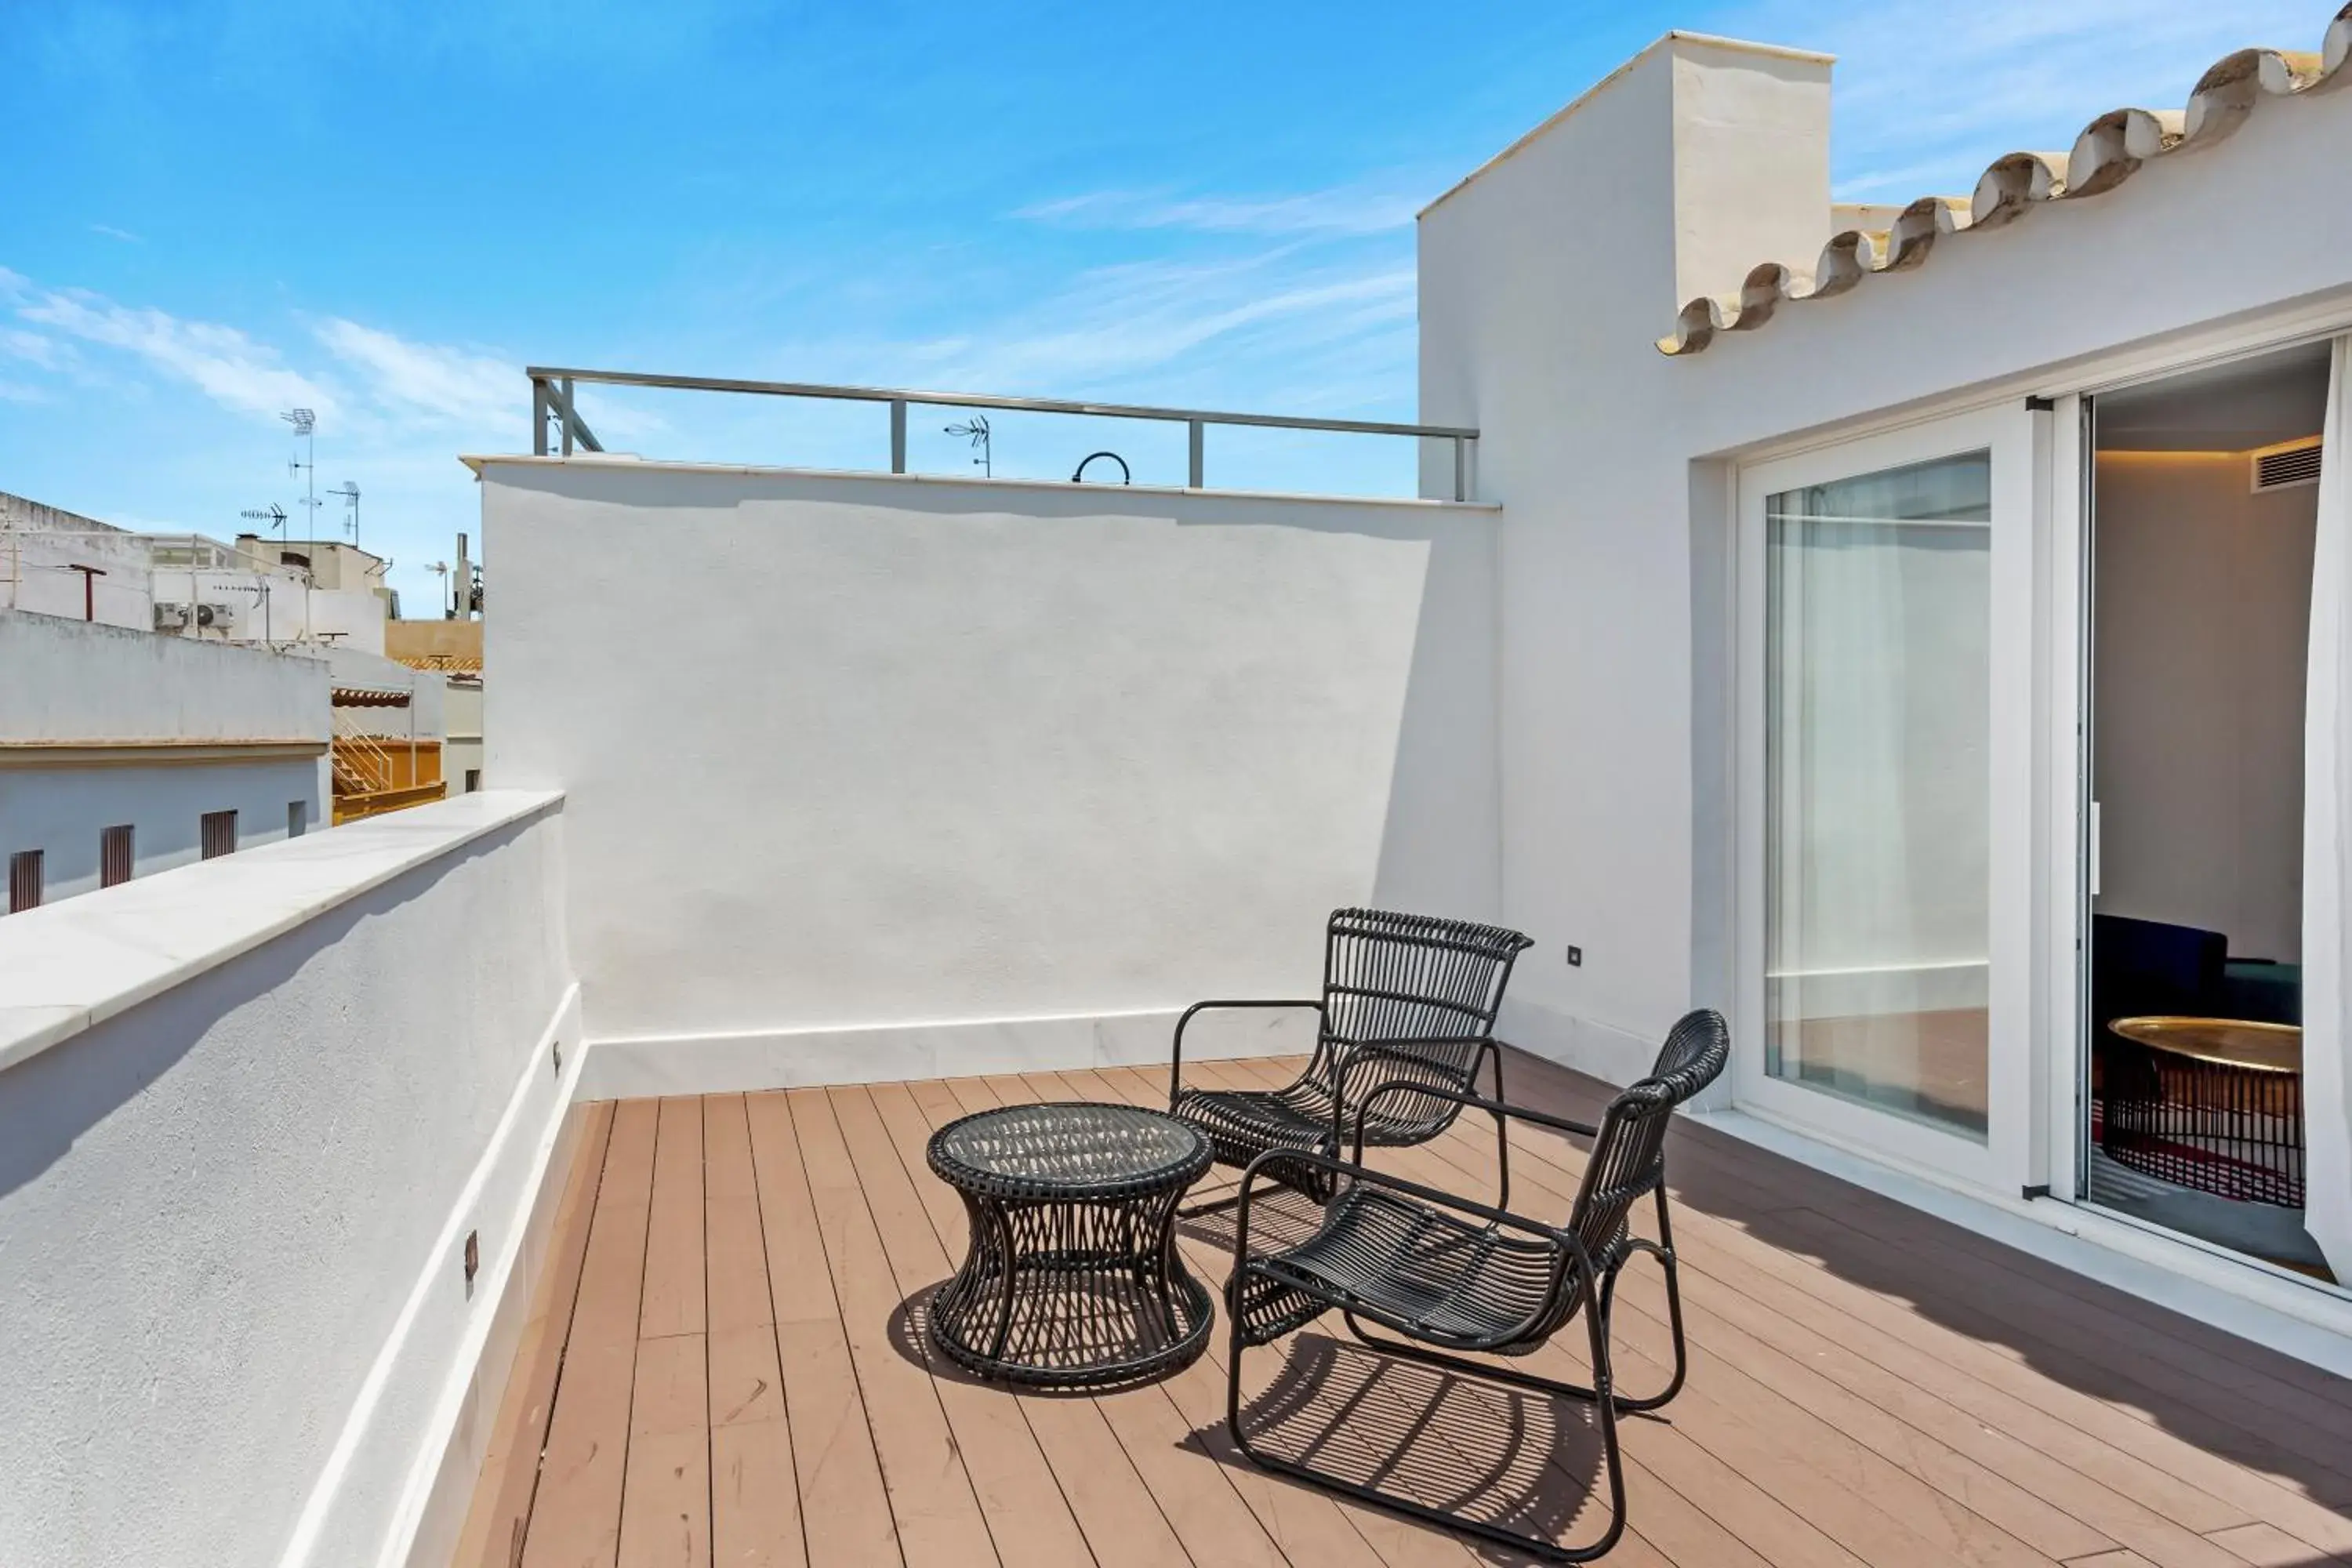
[[[1898,430],[1743,463],[1738,470],[1738,670],[1736,670],[1736,987],[1733,1100],[1771,1121],[1877,1159],[1976,1187],[2018,1192],[2049,1168],[2049,1018],[2058,1006],[2044,954],[2051,886],[2042,856],[2058,846],[2037,830],[2056,790],[2046,736],[2051,712],[2053,411],[2023,400],[1959,411]],[[1872,1110],[1764,1072],[1764,498],[1806,484],[1905,468],[1964,451],[1992,454],[1990,637],[1990,886],[1987,886],[1987,1138]],[[2079,520],[2077,520],[2079,529]],[[2079,571],[2077,571],[2079,581]],[[2037,599],[2037,588],[2039,599]],[[2067,665],[2072,668],[2072,656]],[[2070,755],[2079,752],[2070,743]],[[2072,860],[2067,860],[2072,867]],[[2072,884],[2072,870],[2065,882]],[[2072,943],[2072,933],[2067,936]],[[2072,976],[2072,966],[2065,976]],[[2072,980],[2065,990],[2072,990]]]

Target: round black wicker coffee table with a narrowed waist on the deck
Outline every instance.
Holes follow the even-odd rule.
[[[1176,1204],[1209,1168],[1192,1126],[1131,1105],[1007,1105],[931,1133],[971,1255],[931,1298],[931,1342],[983,1378],[1143,1382],[1209,1345]]]

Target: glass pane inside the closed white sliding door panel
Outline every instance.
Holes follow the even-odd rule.
[[[1764,498],[1764,1072],[1985,1135],[1992,454]]]

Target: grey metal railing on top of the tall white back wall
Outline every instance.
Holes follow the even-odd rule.
[[[936,409],[1011,409],[1021,414],[1084,414],[1094,418],[1150,418],[1185,428],[1188,477],[1185,489],[1207,489],[1207,433],[1209,425],[1254,425],[1265,430],[1331,430],[1338,435],[1409,435],[1418,440],[1454,442],[1454,498],[1470,498],[1470,442],[1477,430],[1465,425],[1399,425],[1376,418],[1294,418],[1289,414],[1221,414],[1209,409],[1152,409],[1124,402],[1065,402],[1061,397],[995,397],[988,393],[908,393],[875,386],[823,386],[814,381],[729,381],[722,376],[647,376],[614,369],[553,369],[534,364],[532,378],[532,451],[548,456],[555,428],[555,449],[572,456],[574,449],[604,451],[595,433],[579,414],[574,388],[579,386],[644,386],[680,393],[750,393],[755,397],[828,397],[835,402],[889,404],[889,470],[906,473],[906,411],[908,407]]]

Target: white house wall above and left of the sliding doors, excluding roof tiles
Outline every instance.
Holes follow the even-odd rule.
[[[2312,47],[2321,26],[2263,42]],[[1811,273],[1832,233],[1828,87],[1823,56],[1668,38],[1421,219],[1421,416],[1479,428],[1477,494],[1505,508],[1503,919],[1536,938],[1505,1025],[1621,1081],[1675,1013],[1729,1001],[1722,458],[2072,390],[2070,362],[2190,353],[2187,334],[2249,313],[2352,310],[2352,92],[2326,92],[1661,355],[1693,294],[1762,261]],[[2051,146],[2107,108],[2053,103]]]

